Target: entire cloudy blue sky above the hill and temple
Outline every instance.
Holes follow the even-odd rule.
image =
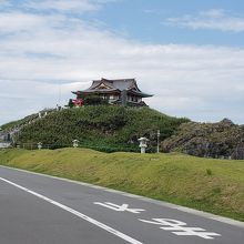
[[[136,78],[163,113],[243,124],[243,40],[241,0],[0,0],[0,124],[102,77]]]

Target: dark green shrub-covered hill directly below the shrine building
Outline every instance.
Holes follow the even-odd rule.
[[[17,143],[42,142],[52,149],[70,146],[74,139],[80,145],[101,151],[138,151],[138,139],[146,136],[153,150],[156,130],[166,139],[187,119],[176,119],[149,108],[92,105],[51,112],[43,119],[24,125]]]

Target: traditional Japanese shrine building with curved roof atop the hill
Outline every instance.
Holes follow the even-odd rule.
[[[143,98],[152,96],[152,94],[146,94],[139,89],[135,79],[108,80],[102,78],[94,80],[89,89],[72,93],[77,95],[74,101],[83,100],[89,95],[98,95],[111,104],[133,106],[145,106]]]

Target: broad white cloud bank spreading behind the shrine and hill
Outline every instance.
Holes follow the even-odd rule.
[[[148,103],[171,115],[244,122],[243,49],[143,44],[61,13],[0,18],[9,30],[0,39],[0,124],[55,106],[60,88],[64,104],[101,77],[136,78],[155,94]]]

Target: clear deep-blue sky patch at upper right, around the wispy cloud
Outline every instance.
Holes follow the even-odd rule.
[[[244,18],[244,1],[236,0],[125,0],[109,4],[94,16],[111,30],[124,32],[129,38],[149,43],[222,44],[243,47],[244,32],[192,30],[172,28],[169,18],[185,14],[197,17],[200,12],[222,10],[226,16]],[[88,19],[92,19],[89,14]]]

